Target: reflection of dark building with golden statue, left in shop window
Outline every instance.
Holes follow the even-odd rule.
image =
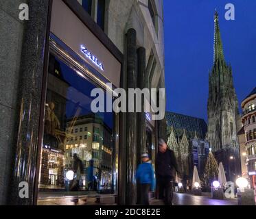
[[[65,134],[65,104],[69,83],[62,77],[60,63],[50,55],[45,131],[40,166],[40,185],[63,185],[63,143]]]

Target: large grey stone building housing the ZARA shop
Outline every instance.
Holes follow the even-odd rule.
[[[165,119],[152,120],[154,112],[94,113],[91,92],[165,88],[163,0],[33,0],[28,21],[15,18],[19,3],[0,4],[0,83],[7,88],[0,91],[0,204],[36,205],[41,185],[53,188],[49,196],[65,192],[77,153],[85,168],[93,160],[96,190],[108,181],[117,203],[135,205],[137,164],[142,152],[154,162]],[[30,198],[19,198],[21,181]]]

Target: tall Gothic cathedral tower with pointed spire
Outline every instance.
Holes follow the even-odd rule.
[[[208,140],[228,181],[241,175],[237,131],[241,128],[231,66],[224,60],[218,12],[214,18],[214,60],[209,73]]]

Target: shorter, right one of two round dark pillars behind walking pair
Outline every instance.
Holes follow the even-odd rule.
[[[140,47],[137,49],[138,56],[138,88],[145,88],[146,76],[146,49]],[[150,101],[150,100],[148,100]],[[141,101],[141,113],[137,114],[137,159],[141,162],[141,154],[146,152],[146,114],[144,112],[144,100]]]

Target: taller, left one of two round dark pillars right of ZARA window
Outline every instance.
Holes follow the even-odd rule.
[[[127,89],[137,87],[137,33],[127,32]],[[129,103],[127,103],[129,105]],[[126,115],[126,205],[136,204],[137,114]]]

